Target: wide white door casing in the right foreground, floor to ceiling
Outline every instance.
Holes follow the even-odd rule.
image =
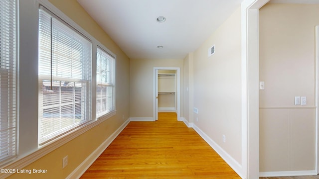
[[[241,4],[242,178],[259,178],[259,8],[269,0]]]

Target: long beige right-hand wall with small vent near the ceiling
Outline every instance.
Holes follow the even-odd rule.
[[[193,53],[194,124],[241,163],[241,9]],[[215,54],[208,49],[215,44]],[[187,58],[185,58],[187,62]],[[192,110],[192,109],[191,109]],[[198,122],[196,118],[198,117]],[[222,142],[222,136],[226,142]]]

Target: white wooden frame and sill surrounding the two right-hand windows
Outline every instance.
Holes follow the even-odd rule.
[[[22,169],[32,164],[34,161],[44,157],[50,152],[58,149],[59,147],[67,144],[78,136],[91,130],[92,128],[100,125],[104,121],[110,119],[116,115],[116,98],[115,98],[115,110],[104,115],[97,120],[96,118],[96,48],[100,46],[106,50],[109,54],[116,58],[116,54],[106,48],[99,40],[93,35],[83,29],[78,23],[76,23],[69,16],[64,14],[60,9],[55,7],[49,0],[35,0],[34,3],[29,3],[24,0],[17,0],[17,20],[20,20],[17,27],[17,102],[19,105],[24,106],[18,109],[17,105],[17,117],[22,116],[17,122],[19,144],[18,155],[7,163],[1,163],[1,168],[7,169]],[[92,83],[91,83],[91,100],[92,100],[92,120],[79,126],[75,130],[57,137],[56,139],[39,146],[38,145],[38,6],[42,5],[56,16],[61,18],[64,22],[75,28],[82,33],[88,39],[92,41]],[[26,23],[27,22],[27,23]],[[21,30],[19,30],[21,29]],[[107,44],[109,45],[109,44]],[[19,46],[23,48],[19,49]],[[27,60],[19,61],[19,57]],[[116,64],[115,64],[116,74]],[[116,76],[115,76],[116,82]],[[115,86],[115,91],[117,86]],[[20,96],[20,98],[19,98]],[[115,94],[116,96],[116,94]],[[11,174],[3,174],[2,177],[8,177]]]

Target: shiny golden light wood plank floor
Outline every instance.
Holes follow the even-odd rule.
[[[240,179],[175,113],[130,122],[81,179]]]

